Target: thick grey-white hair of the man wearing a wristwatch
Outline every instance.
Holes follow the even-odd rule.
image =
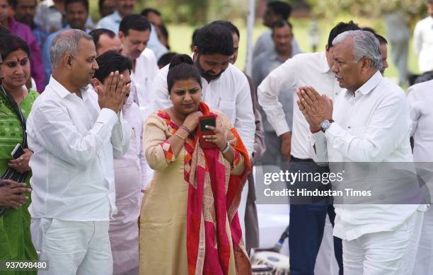
[[[382,69],[382,56],[379,40],[373,33],[366,30],[348,30],[340,33],[333,40],[333,46],[348,38],[353,39],[353,56],[354,62],[359,62],[363,57],[368,57],[371,60],[371,68],[376,70]]]

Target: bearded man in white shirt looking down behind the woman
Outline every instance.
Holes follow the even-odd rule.
[[[202,74],[202,101],[231,120],[251,155],[255,132],[253,103],[246,76],[230,64],[233,53],[233,36],[226,26],[213,22],[197,31],[192,59]],[[154,111],[171,106],[167,74],[165,66],[152,84]]]

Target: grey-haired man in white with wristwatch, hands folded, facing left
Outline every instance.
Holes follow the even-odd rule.
[[[408,106],[403,90],[381,76],[379,41],[372,33],[353,30],[338,35],[333,45],[332,70],[347,90],[337,96],[334,107],[326,97],[317,94],[308,99],[305,91],[299,91],[299,107],[313,133],[309,142],[314,160],[412,162]],[[369,172],[381,178],[381,170]],[[343,240],[345,274],[411,274],[426,208],[420,204],[335,205],[334,235]]]

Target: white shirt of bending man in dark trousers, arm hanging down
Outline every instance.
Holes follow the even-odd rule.
[[[284,110],[278,97],[281,90],[290,91],[293,95],[293,122],[291,133],[291,156],[311,158],[306,139],[310,133],[308,122],[299,110],[296,101],[299,99],[296,90],[300,86],[312,86],[318,93],[334,98],[340,93],[334,73],[330,70],[325,52],[296,54],[288,59],[265,78],[258,86],[258,101],[267,115],[267,120],[281,136],[290,131]]]

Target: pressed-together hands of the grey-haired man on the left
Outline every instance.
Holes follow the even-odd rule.
[[[107,79],[106,88],[96,86],[95,90],[98,93],[98,104],[101,109],[108,108],[114,112],[119,112],[125,102],[125,96],[129,91],[129,83],[125,85],[125,80],[119,71],[111,73]]]

